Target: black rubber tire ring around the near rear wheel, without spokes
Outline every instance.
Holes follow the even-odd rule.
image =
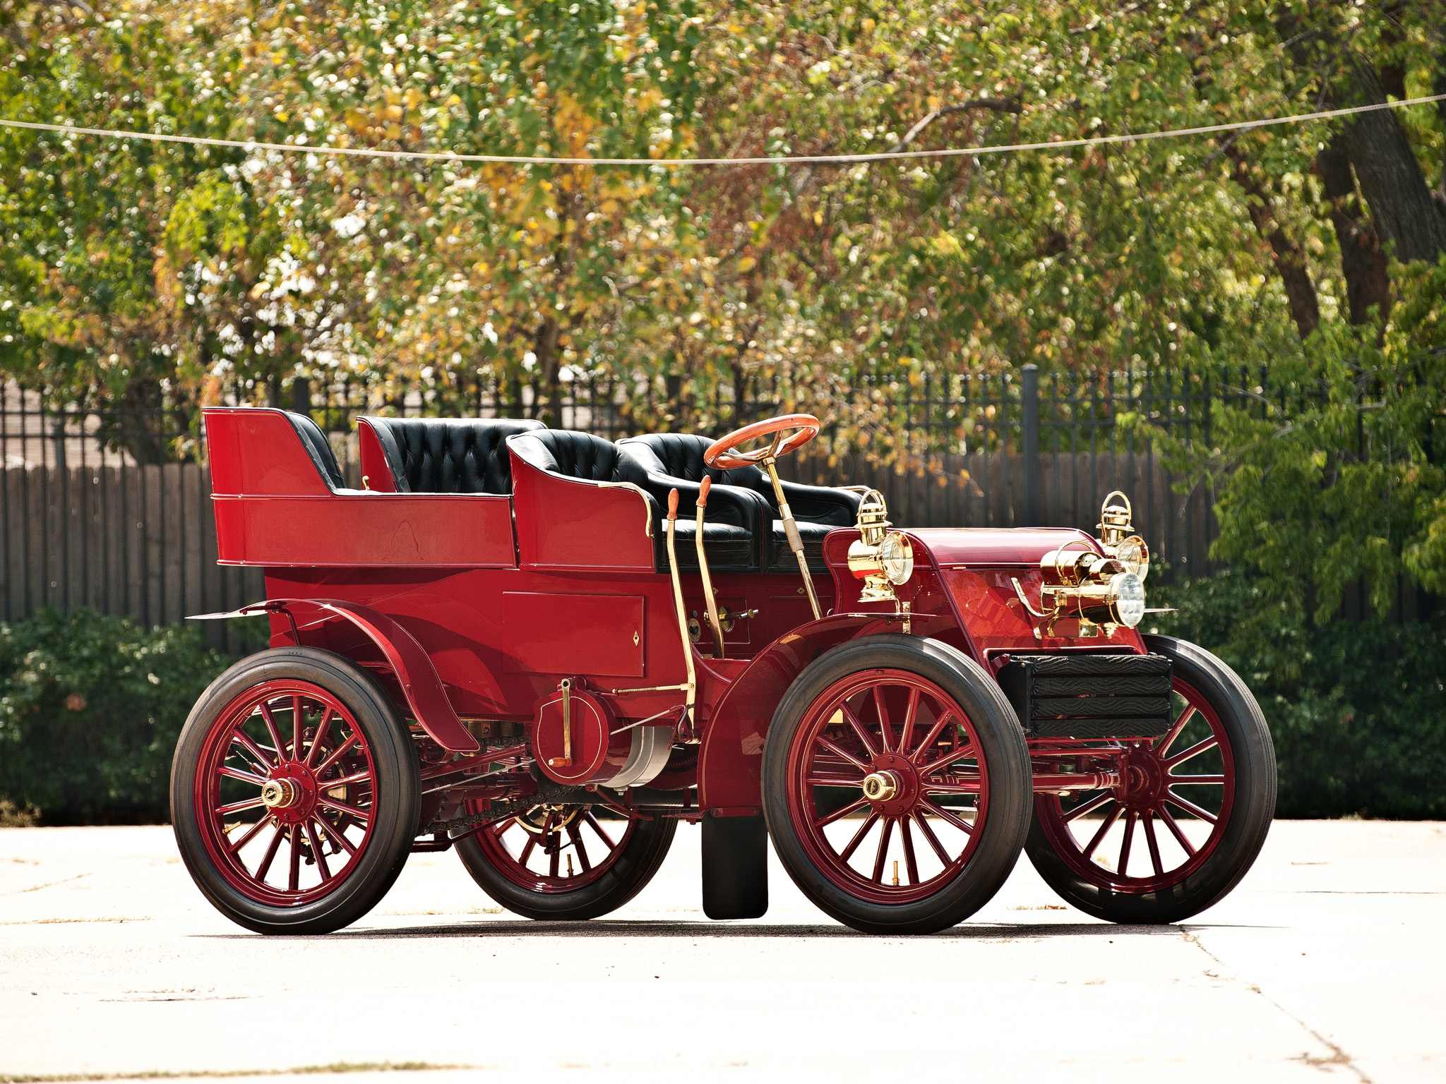
[[[295,908],[247,899],[220,874],[205,851],[192,804],[192,779],[217,715],[247,688],[301,679],[322,687],[351,710],[376,767],[376,825],[356,867],[327,896]],[[237,925],[257,934],[330,934],[366,915],[396,882],[416,835],[421,809],[416,744],[386,689],[341,655],[315,648],[276,648],[241,659],[201,694],[181,728],[171,767],[171,822],[191,879]]]

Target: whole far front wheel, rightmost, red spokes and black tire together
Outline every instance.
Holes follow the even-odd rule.
[[[1202,648],[1145,646],[1174,663],[1174,723],[1126,743],[1121,786],[1035,798],[1025,851],[1067,903],[1111,922],[1178,922],[1245,876],[1275,814],[1275,750],[1259,705]]]

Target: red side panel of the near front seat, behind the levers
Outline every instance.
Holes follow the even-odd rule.
[[[508,454],[523,568],[654,571],[652,512],[638,490],[548,474]]]

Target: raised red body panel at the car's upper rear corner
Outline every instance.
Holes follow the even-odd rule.
[[[301,436],[281,410],[208,409],[205,442],[211,454],[211,493],[330,493]]]

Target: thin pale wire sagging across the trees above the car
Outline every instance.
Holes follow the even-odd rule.
[[[1112,136],[1084,136],[1079,139],[1051,139],[1035,143],[1008,143],[1002,146],[943,147],[937,150],[881,150],[862,155],[769,155],[746,158],[552,158],[545,155],[460,155],[453,150],[388,150],[383,147],[340,147],[325,143],[266,143],[250,139],[213,139],[210,136],[184,136],[165,132],[126,132],[121,129],[93,129],[78,124],[52,124],[38,120],[0,119],[0,127],[30,129],[36,132],[58,132],[71,136],[100,136],[104,139],[139,139],[152,143],[188,143],[192,146],[233,147],[239,150],[275,150],[288,155],[337,155],[351,158],[398,159],[408,162],[451,162],[525,165],[525,166],[655,166],[662,169],[685,168],[729,168],[729,166],[824,166],[824,165],[870,165],[873,162],[928,160],[947,158],[979,158],[982,155],[1009,155],[1025,150],[1070,150],[1074,147],[1109,146],[1118,143],[1142,143],[1155,139],[1183,139],[1186,136],[1209,136],[1219,132],[1244,133],[1254,129],[1278,124],[1304,124],[1312,120],[1353,117],[1377,110],[1424,106],[1446,100],[1446,94],[1427,94],[1419,98],[1378,101],[1368,106],[1316,110],[1284,117],[1264,117],[1223,124],[1199,124],[1187,129],[1163,129],[1158,132],[1121,133]],[[299,136],[305,139],[305,136]]]

